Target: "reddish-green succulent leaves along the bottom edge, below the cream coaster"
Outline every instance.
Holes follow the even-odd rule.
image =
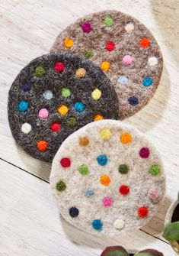
[[[164,256],[164,254],[152,249],[137,252],[126,251],[122,246],[110,246],[102,252],[101,256]]]

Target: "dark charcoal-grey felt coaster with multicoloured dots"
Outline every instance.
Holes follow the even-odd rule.
[[[53,160],[62,141],[78,128],[117,118],[117,94],[91,60],[47,54],[18,74],[8,96],[11,132],[32,157]]]

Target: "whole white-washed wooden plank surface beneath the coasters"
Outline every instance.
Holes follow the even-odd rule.
[[[167,174],[167,196],[158,215],[126,238],[93,238],[59,217],[50,185],[50,164],[35,160],[14,143],[8,127],[8,90],[30,60],[48,53],[59,31],[93,11],[117,9],[142,21],[154,34],[165,67],[154,98],[126,120],[155,143]],[[179,190],[179,1],[0,0],[0,255],[100,255],[106,245],[158,248],[165,212]],[[33,175],[31,175],[33,174]],[[155,235],[155,237],[154,237]]]

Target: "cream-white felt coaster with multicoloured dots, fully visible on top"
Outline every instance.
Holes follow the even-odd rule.
[[[155,215],[165,196],[161,157],[144,134],[101,120],[71,134],[50,183],[63,218],[94,235],[125,235]]]

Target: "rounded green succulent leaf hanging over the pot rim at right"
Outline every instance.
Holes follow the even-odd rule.
[[[179,240],[179,222],[172,222],[166,225],[162,235],[168,241]]]

